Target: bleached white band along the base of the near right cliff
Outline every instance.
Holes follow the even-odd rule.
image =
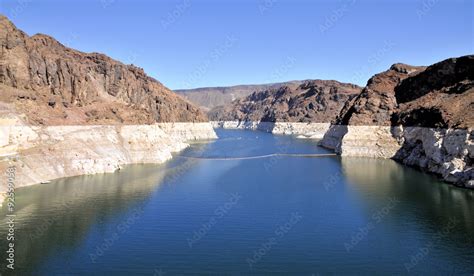
[[[331,126],[321,145],[342,156],[392,158],[474,188],[473,129],[390,126]]]

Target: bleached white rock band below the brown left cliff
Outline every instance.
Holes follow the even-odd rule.
[[[126,164],[159,164],[186,148],[188,141],[217,138],[209,123],[165,127],[6,123],[11,120],[0,126],[0,171],[14,166],[17,188],[62,177],[115,172]]]

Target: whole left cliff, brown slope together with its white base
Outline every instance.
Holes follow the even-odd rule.
[[[29,37],[1,15],[0,47],[0,171],[14,167],[16,187],[162,163],[217,138],[199,108],[138,67]]]

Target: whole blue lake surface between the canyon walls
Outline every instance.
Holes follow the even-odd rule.
[[[328,153],[287,136],[218,135],[179,155]],[[17,189],[16,200],[17,275],[474,273],[473,191],[391,160],[176,157]]]

